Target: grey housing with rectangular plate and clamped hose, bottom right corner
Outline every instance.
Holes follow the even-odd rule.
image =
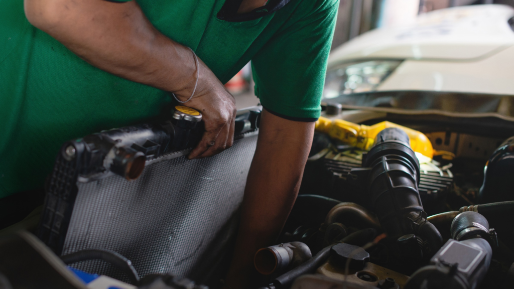
[[[480,284],[492,257],[489,223],[477,212],[460,213],[453,220],[451,236],[454,240],[440,248],[431,265],[418,269],[405,289],[474,289]]]

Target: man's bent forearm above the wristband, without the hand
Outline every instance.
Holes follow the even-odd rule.
[[[168,39],[135,1],[25,0],[27,19],[88,63],[165,91],[194,85],[191,51]]]

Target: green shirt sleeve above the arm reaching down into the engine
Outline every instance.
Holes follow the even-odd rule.
[[[336,25],[338,0],[311,3],[307,13],[284,25],[252,59],[255,94],[261,104],[291,120],[315,121],[320,116]],[[298,10],[293,14],[301,14]]]

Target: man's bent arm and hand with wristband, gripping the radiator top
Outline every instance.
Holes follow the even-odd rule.
[[[135,1],[24,0],[29,22],[91,65],[119,77],[174,92],[192,93],[196,68],[191,51],[161,34]],[[190,158],[205,157],[233,142],[234,98],[200,60],[198,87],[186,105],[204,116],[206,133]]]

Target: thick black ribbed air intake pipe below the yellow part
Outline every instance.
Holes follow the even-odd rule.
[[[409,147],[409,136],[397,128],[381,131],[362,165],[352,169],[348,178],[363,188],[363,198],[377,214],[383,230],[393,239],[414,233],[421,239],[420,247],[434,254],[443,239],[426,220],[421,205],[419,162]]]

